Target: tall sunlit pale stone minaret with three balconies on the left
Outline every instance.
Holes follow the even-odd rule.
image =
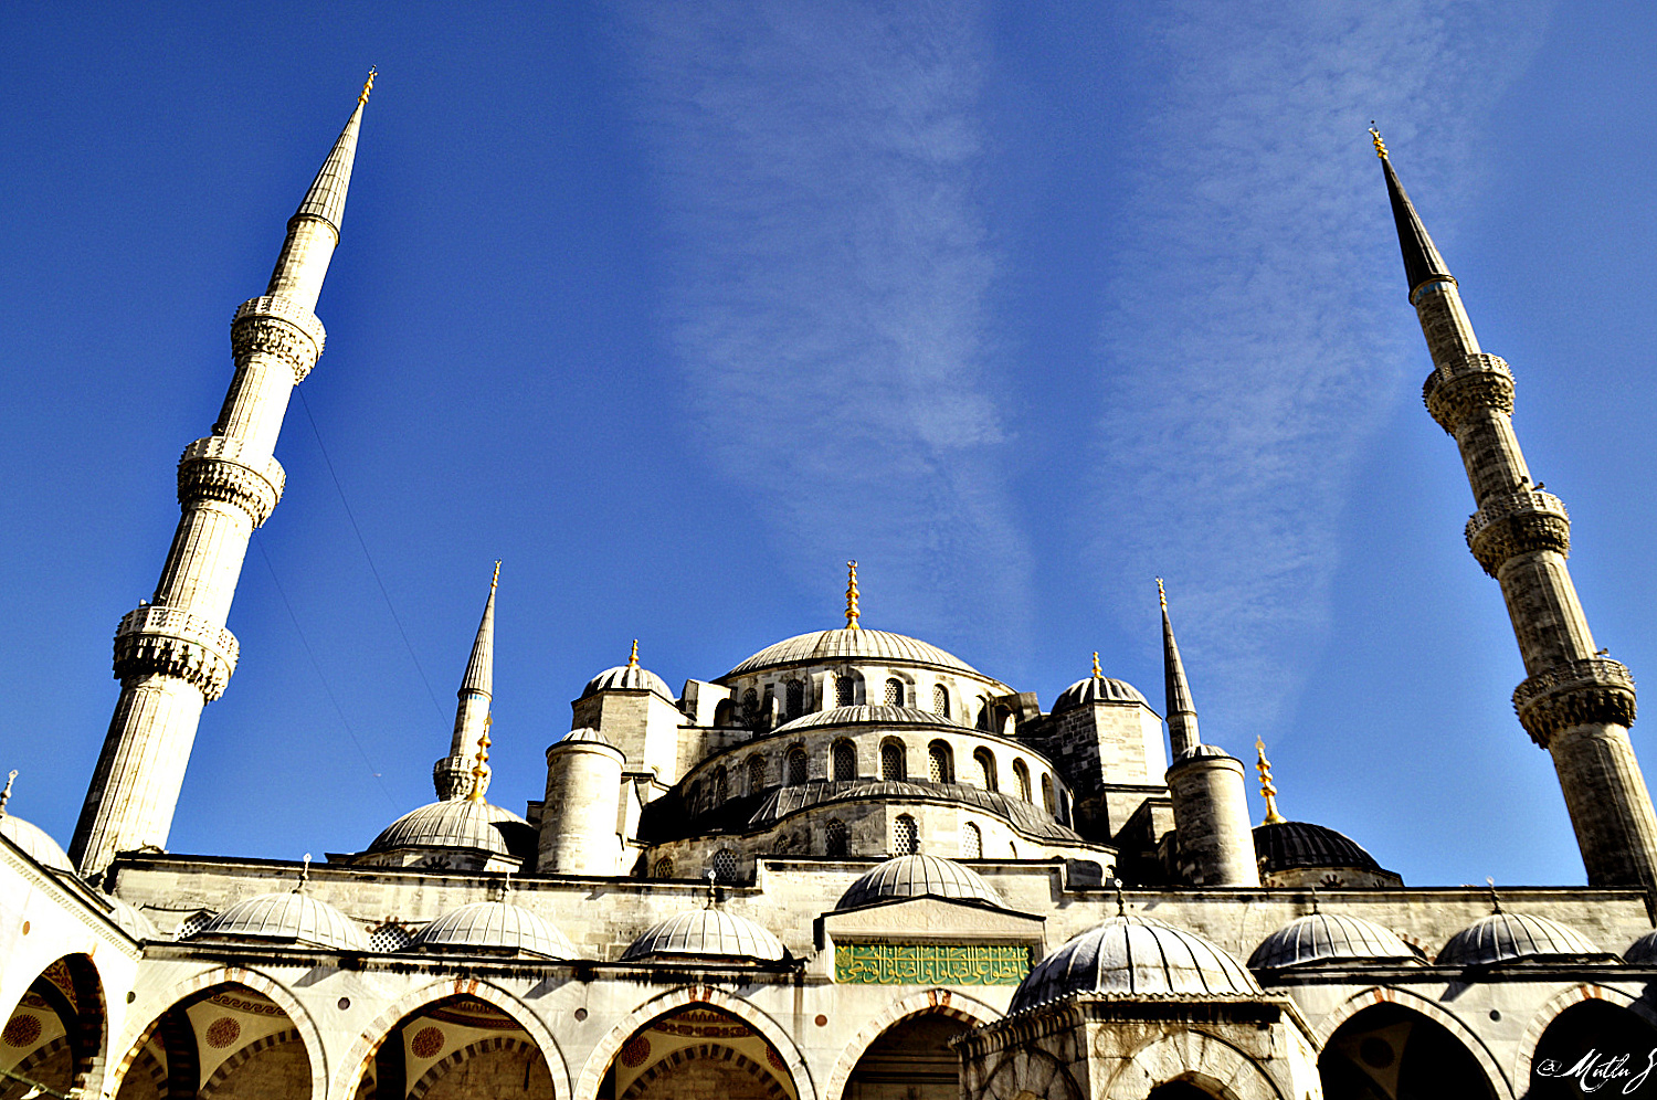
[[[370,71],[345,131],[288,220],[270,287],[230,321],[235,376],[212,434],[179,459],[182,515],[156,596],[116,628],[121,701],[70,843],[83,875],[101,871],[118,852],[167,843],[202,707],[224,694],[235,671],[237,641],[225,620],[249,538],[282,497],[283,472],[272,452],[288,398],[321,355],[323,326],[312,310],[340,244],[373,86]]]

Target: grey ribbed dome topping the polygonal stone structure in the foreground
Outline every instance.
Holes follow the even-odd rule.
[[[1150,916],[1112,916],[1036,964],[1012,994],[1022,1012],[1072,992],[1258,994],[1254,976],[1201,936]]]

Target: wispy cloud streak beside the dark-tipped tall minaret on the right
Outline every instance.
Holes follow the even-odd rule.
[[[1138,578],[1175,578],[1213,702],[1253,726],[1296,694],[1354,462],[1420,361],[1364,126],[1448,235],[1478,191],[1470,141],[1546,5],[1181,3],[1162,22],[1167,104],[1135,138],[1104,328],[1117,519],[1099,552],[1133,615]]]

